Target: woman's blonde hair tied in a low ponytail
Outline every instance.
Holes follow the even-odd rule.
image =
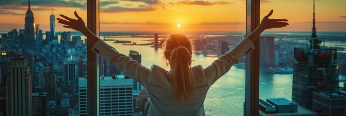
[[[188,37],[181,34],[173,34],[162,44],[166,65],[171,65],[173,72],[171,84],[175,88],[175,100],[185,102],[193,101],[191,98],[194,89],[191,73],[193,47]],[[170,55],[169,58],[165,54]],[[167,59],[169,63],[167,63]]]

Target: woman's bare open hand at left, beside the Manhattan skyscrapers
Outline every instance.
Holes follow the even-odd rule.
[[[77,19],[72,19],[72,18],[67,17],[63,14],[60,14],[60,16],[65,18],[65,19],[57,18],[58,23],[63,24],[64,28],[75,29],[75,30],[82,32],[82,33],[88,31],[88,28],[85,26],[83,19],[81,17],[79,17],[79,15],[77,14],[76,11],[75,11],[75,16],[77,17]]]

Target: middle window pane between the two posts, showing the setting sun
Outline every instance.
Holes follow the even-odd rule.
[[[147,68],[156,64],[169,71],[170,67],[163,62],[161,44],[171,34],[185,34],[195,45],[192,65],[207,67],[244,38],[245,11],[246,2],[242,0],[100,0],[100,39]],[[119,85],[114,78],[124,78],[124,75],[126,78],[126,74],[103,58],[99,63],[100,115],[130,111],[145,116],[150,105],[146,89],[132,80],[129,80],[132,83]],[[115,83],[109,86],[109,81]],[[126,91],[118,90],[119,86],[131,86],[132,95],[127,96]],[[131,102],[117,102],[114,97]],[[245,58],[210,87],[204,102],[205,113],[240,116],[244,99]],[[106,103],[109,101],[126,103],[119,106],[130,108],[123,111],[122,108],[110,108],[110,111]]]

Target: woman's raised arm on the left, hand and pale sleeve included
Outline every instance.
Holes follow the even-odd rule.
[[[116,65],[116,67],[131,76],[135,81],[140,82],[146,87],[147,78],[150,74],[150,70],[142,66],[132,58],[123,55],[115,48],[100,40],[94,33],[92,33],[86,26],[82,18],[79,17],[75,11],[77,19],[69,18],[63,14],[60,14],[65,19],[57,18],[58,23],[64,24],[64,28],[75,29],[83,33],[89,40],[94,43],[92,51],[105,58],[110,64]]]

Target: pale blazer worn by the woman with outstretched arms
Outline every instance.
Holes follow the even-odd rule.
[[[102,40],[98,40],[92,48],[96,54],[146,87],[151,100],[148,116],[205,116],[204,100],[209,87],[253,49],[253,43],[244,38],[210,66],[193,66],[193,102],[184,104],[175,101],[174,87],[169,81],[171,75],[165,69],[157,65],[148,69]]]

